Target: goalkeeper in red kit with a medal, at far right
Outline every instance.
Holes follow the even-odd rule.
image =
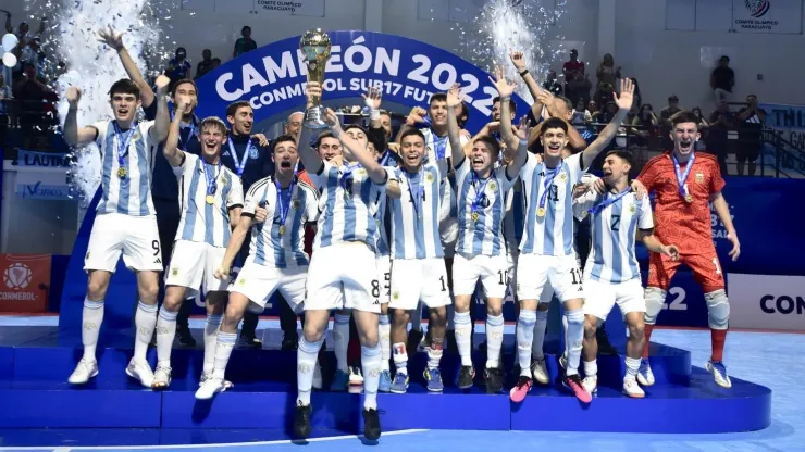
[[[729,255],[733,261],[741,254],[741,243],[732,224],[730,208],[721,190],[725,180],[718,161],[713,154],[695,152],[701,139],[698,120],[689,112],[680,112],[671,118],[673,149],[657,155],[646,163],[637,176],[648,192],[656,193],[655,216],[657,238],[679,247],[679,260],[672,261],[662,254],[652,253],[648,260],[648,284],[646,287],[646,341],[637,381],[643,386],[654,384],[654,374],[648,362],[648,343],[657,315],[662,310],[673,275],[680,264],[693,271],[693,277],[702,286],[707,303],[707,323],[710,327],[713,354],[706,369],[717,385],[732,387],[727,367],[723,365],[723,344],[730,319],[730,304],[725,292],[723,272],[713,244],[709,203],[727,229],[732,243]]]

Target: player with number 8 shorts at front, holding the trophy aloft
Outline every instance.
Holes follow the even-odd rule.
[[[321,96],[321,86],[309,83],[308,99]],[[294,413],[294,432],[299,438],[310,435],[310,390],[313,368],[327,328],[331,310],[351,309],[361,342],[363,367],[363,435],[380,438],[377,384],[381,350],[377,340],[380,290],[376,279],[374,246],[376,199],[385,194],[389,173],[367,150],[367,141],[345,134],[332,110],[323,118],[330,131],[344,145],[346,166],[322,161],[309,146],[311,130],[302,128],[299,143],[305,168],[321,190],[319,228],[310,262],[305,301],[304,336],[297,351],[299,394]],[[348,260],[345,262],[345,258]]]

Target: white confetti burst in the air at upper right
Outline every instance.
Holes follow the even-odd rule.
[[[460,32],[458,52],[487,71],[500,64],[508,79],[519,80],[508,55],[510,50],[520,50],[529,71],[537,81],[543,80],[552,61],[564,52],[560,48],[552,49],[550,45],[564,40],[557,23],[567,0],[556,0],[556,7],[550,9],[541,3],[553,2],[487,0],[470,24],[457,24],[453,28]],[[533,101],[525,84],[518,84],[517,93]]]

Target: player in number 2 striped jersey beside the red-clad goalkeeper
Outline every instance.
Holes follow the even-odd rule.
[[[643,352],[646,302],[640,266],[634,252],[634,242],[641,240],[655,253],[679,259],[674,244],[662,244],[654,236],[654,219],[648,197],[636,194],[629,185],[629,171],[632,155],[626,151],[610,151],[604,160],[604,183],[606,191],[598,194],[587,191],[574,200],[577,217],[590,216],[593,246],[584,266],[584,389],[596,392],[598,366],[596,354],[598,341],[596,329],[609,312],[618,304],[629,328],[627,341],[623,393],[632,398],[643,398],[645,392],[637,385],[640,356]]]

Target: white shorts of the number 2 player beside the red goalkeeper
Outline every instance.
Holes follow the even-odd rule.
[[[592,315],[606,321],[609,312],[618,303],[621,314],[646,312],[646,300],[640,278],[626,282],[609,284],[584,279],[584,315]]]

